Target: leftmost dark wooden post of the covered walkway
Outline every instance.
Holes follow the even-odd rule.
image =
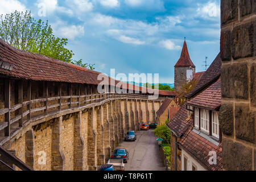
[[[5,108],[9,111],[5,113],[5,122],[8,123],[7,127],[5,127],[5,136],[10,137],[10,104],[11,104],[11,84],[10,79],[5,79]]]

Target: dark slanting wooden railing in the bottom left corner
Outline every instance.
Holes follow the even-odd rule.
[[[0,171],[15,171],[14,166],[22,171],[33,171],[30,166],[23,163],[22,160],[16,158],[15,155],[0,146]]]

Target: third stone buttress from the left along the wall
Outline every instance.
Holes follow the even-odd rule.
[[[75,115],[74,121],[74,170],[83,171],[85,169],[84,164],[84,139],[82,138],[82,111],[79,111]]]

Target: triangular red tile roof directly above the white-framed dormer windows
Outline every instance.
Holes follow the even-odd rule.
[[[188,105],[204,107],[207,109],[217,109],[221,106],[221,78],[198,94],[195,98],[192,98]]]

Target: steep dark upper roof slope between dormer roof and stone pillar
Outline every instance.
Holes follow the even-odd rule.
[[[193,97],[195,94],[199,93],[200,90],[207,87],[213,81],[217,80],[221,75],[221,56],[220,53],[201,77],[199,83],[195,86],[195,88],[189,92],[185,97]]]

